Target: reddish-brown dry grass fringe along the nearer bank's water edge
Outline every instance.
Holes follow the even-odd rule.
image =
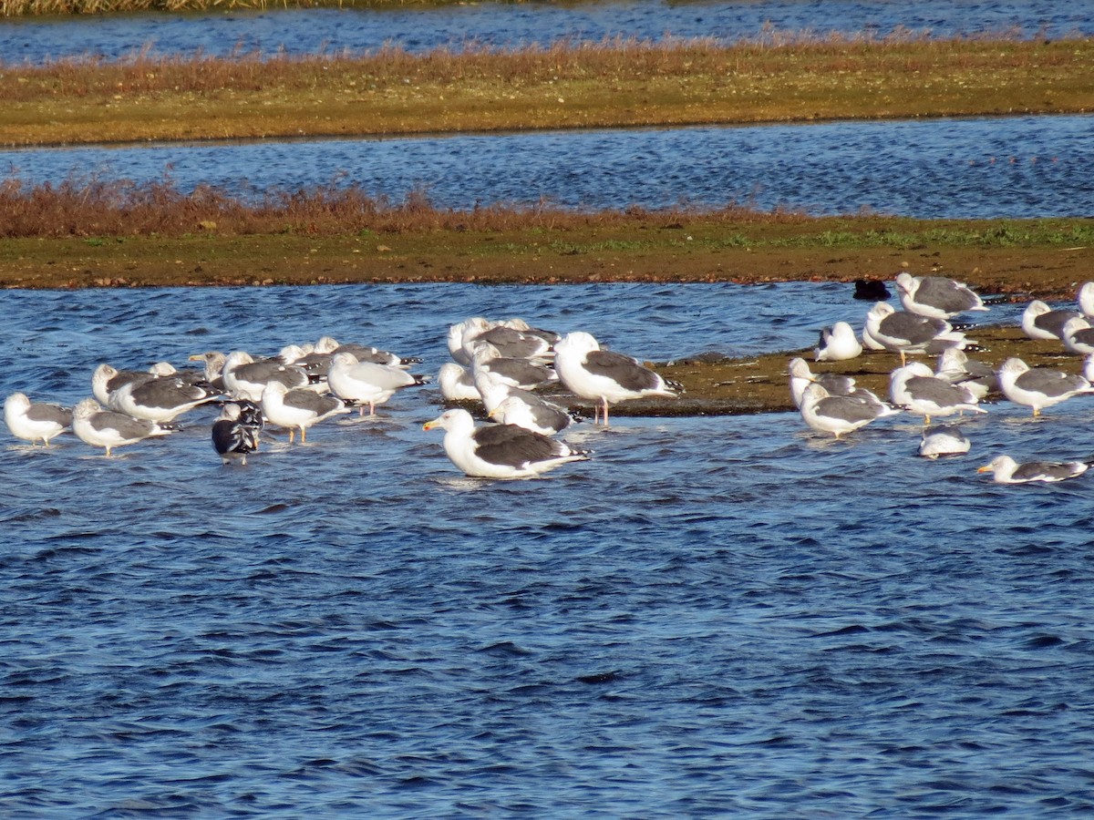
[[[435,207],[422,191],[393,201],[337,181],[300,190],[274,188],[249,200],[206,185],[185,192],[170,178],[147,185],[98,178],[36,186],[18,178],[0,183],[3,237],[572,231],[651,221],[673,225],[700,213],[714,223],[804,219],[788,211],[761,213],[737,204],[702,211],[579,211],[543,201],[531,207],[490,206],[461,211]]]

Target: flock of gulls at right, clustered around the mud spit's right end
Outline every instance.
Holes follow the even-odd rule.
[[[884,291],[884,284],[882,290]],[[965,350],[975,342],[952,320],[965,313],[987,311],[968,285],[945,277],[897,274],[896,291],[904,309],[878,301],[866,314],[861,337],[847,321],[821,331],[816,361],[854,359],[863,350],[887,350],[900,355],[900,366],[889,374],[888,400],[859,387],[849,376],[814,374],[798,356],[790,361],[790,391],[802,419],[813,430],[836,438],[877,419],[910,412],[923,417],[919,454],[928,458],[962,455],[970,443],[957,424],[932,425],[932,419],[987,412],[979,407],[990,393],[1032,409],[1039,415],[1074,396],[1094,393],[1094,282],[1079,289],[1078,308],[1052,309],[1039,300],[1022,315],[1022,329],[1031,339],[1055,339],[1070,353],[1084,356],[1082,373],[1031,367],[1016,356],[998,368],[969,359]],[[884,291],[887,294],[887,291]],[[878,294],[881,295],[881,294]],[[935,370],[907,361],[909,354],[938,358]],[[1062,481],[1085,472],[1092,461],[1027,461],[1001,455],[979,468],[1000,483]]]

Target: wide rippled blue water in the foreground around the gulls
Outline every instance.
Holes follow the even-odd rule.
[[[810,344],[845,285],[5,292],[4,393],[322,333],[443,361],[520,314],[665,359]],[[1014,318],[994,307],[988,320]],[[1074,364],[1074,363],[1071,363]],[[846,442],[789,413],[579,425],[535,481],[463,478],[433,388],[246,467],[211,411],[107,459],[4,436],[5,813],[765,817],[1094,808],[1090,399]]]

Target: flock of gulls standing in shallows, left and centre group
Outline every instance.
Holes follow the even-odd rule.
[[[593,423],[608,424],[610,405],[645,396],[675,396],[678,385],[631,356],[601,349],[584,331],[560,336],[522,319],[472,317],[449,329],[453,361],[438,374],[446,402],[475,400],[492,423],[478,425],[468,410],[453,407],[427,422],[445,431],[450,460],[476,478],[532,478],[571,461],[587,459],[556,437],[575,417],[537,393],[560,383],[595,401]],[[289,431],[301,442],[315,424],[351,413],[375,417],[376,407],[397,391],[431,382],[410,373],[417,358],[323,337],[314,344],[289,344],[270,358],[236,350],[190,356],[200,368],[179,371],[158,362],[147,371],[100,364],[91,375],[92,396],[68,409],[31,401],[14,393],[4,401],[4,421],[18,438],[36,445],[71,430],[78,438],[114,449],[182,429],[177,419],[196,408],[217,406],[210,429],[223,462],[246,464],[259,447],[266,425]]]

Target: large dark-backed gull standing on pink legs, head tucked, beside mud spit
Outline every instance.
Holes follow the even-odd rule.
[[[676,397],[662,376],[630,356],[601,350],[596,339],[581,330],[567,333],[555,344],[555,370],[568,390],[601,402],[605,427],[610,402],[645,396]],[[594,424],[597,418],[594,411]]]

